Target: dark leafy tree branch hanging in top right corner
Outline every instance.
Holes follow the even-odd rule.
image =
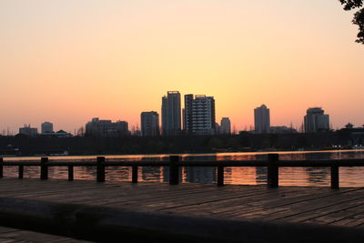
[[[359,8],[359,11],[354,14],[352,23],[359,26],[358,39],[356,42],[364,44],[364,8],[363,0],[339,0],[341,5],[344,5],[345,11],[350,11]]]

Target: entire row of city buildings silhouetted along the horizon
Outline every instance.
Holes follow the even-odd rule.
[[[181,94],[178,91],[168,91],[167,96],[162,96],[161,114],[165,114],[160,119],[156,111],[143,111],[140,116],[140,127],[128,128],[127,121],[121,121],[118,119],[116,122],[112,122],[111,119],[99,119],[98,117],[92,118],[91,122],[87,122],[86,126],[79,127],[74,130],[73,135],[83,136],[87,133],[87,127],[90,131],[90,126],[93,127],[93,133],[111,133],[111,137],[120,135],[134,135],[134,136],[176,136],[176,135],[219,135],[219,134],[230,134],[231,133],[231,122],[228,117],[222,117],[220,124],[216,122],[216,111],[215,111],[215,99],[213,96],[187,94],[185,95],[185,106],[182,108]],[[169,97],[169,98],[168,98]],[[196,104],[195,104],[196,103]],[[243,130],[236,130],[234,126],[233,134],[239,131],[250,131],[256,134],[267,134],[267,133],[316,133],[320,131],[339,130],[343,127],[364,127],[353,125],[350,122],[343,127],[337,127],[333,129],[329,123],[329,114],[324,114],[324,110],[317,107],[308,107],[307,115],[303,116],[303,122],[300,127],[279,125],[270,125],[270,112],[266,105],[261,105],[254,108],[254,127],[245,127]],[[172,115],[170,115],[172,114]],[[177,114],[177,115],[176,115]],[[169,127],[173,129],[170,130]],[[41,134],[55,134],[53,131],[53,123],[45,121],[41,124]],[[118,127],[118,128],[116,128]],[[227,128],[228,127],[228,128]],[[24,127],[19,127],[19,134],[25,134],[34,136],[37,135],[38,127],[31,127],[30,124],[25,124]],[[110,130],[111,129],[111,130]],[[22,132],[23,130],[23,132]],[[96,130],[98,130],[96,132]],[[60,130],[65,132],[64,130]],[[181,133],[182,132],[182,133]],[[1,134],[1,133],[0,133]],[[72,132],[66,133],[72,134]],[[117,135],[116,135],[117,134]],[[5,134],[2,135],[15,135]],[[108,137],[101,136],[101,137]]]

